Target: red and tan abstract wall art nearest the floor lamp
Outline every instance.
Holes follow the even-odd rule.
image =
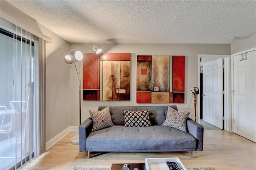
[[[130,53],[84,54],[83,100],[130,100]]]

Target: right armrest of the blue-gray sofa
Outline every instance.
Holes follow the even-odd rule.
[[[197,139],[196,151],[202,151],[204,140],[204,127],[190,118],[187,119],[187,127],[188,132]]]

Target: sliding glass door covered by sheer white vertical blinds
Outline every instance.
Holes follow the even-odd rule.
[[[0,167],[18,169],[45,152],[46,41],[0,23]]]

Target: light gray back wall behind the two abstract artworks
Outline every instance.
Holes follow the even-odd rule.
[[[83,53],[94,44],[70,44],[70,50],[79,49]],[[136,60],[137,55],[185,55],[185,103],[176,104],[180,111],[186,111],[192,95],[190,90],[198,85],[198,54],[230,54],[230,44],[99,44],[102,52],[131,53],[131,100],[130,101],[82,101],[82,122],[90,116],[89,109],[98,110],[99,105],[166,105],[136,103]],[[87,53],[92,53],[89,50]],[[82,77],[82,67],[80,68]],[[78,125],[78,84],[70,74],[71,125]],[[188,111],[194,119],[193,101]]]

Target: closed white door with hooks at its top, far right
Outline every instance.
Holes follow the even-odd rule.
[[[232,74],[234,132],[256,142],[256,51],[234,56]]]

